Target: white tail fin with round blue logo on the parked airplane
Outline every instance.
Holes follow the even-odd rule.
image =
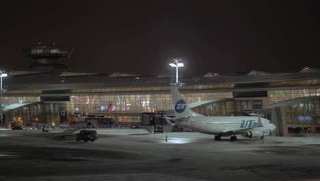
[[[171,86],[172,104],[174,105],[174,115],[176,117],[194,117],[194,112],[189,108],[185,99],[176,86]]]

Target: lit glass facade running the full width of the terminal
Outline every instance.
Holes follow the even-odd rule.
[[[187,103],[232,98],[232,92],[185,93]],[[320,89],[268,90],[269,104],[296,97],[320,96]],[[3,97],[3,106],[23,102],[40,102],[40,97]],[[61,104],[64,104],[62,110]],[[319,100],[301,103],[285,108],[286,122],[291,124],[317,123],[320,119]],[[194,111],[209,116],[241,115],[241,110],[251,110],[252,100],[222,101],[195,108]],[[27,122],[57,124],[65,121],[84,121],[88,115],[110,117],[121,124],[141,122],[142,112],[174,110],[171,94],[101,94],[73,95],[70,101],[44,102],[12,110],[13,117]],[[62,111],[66,117],[62,119]],[[77,115],[77,116],[76,116]]]

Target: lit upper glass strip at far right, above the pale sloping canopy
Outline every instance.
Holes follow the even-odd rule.
[[[269,104],[297,97],[320,96],[319,89],[268,90]]]

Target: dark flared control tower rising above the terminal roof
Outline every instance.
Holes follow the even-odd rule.
[[[39,45],[22,49],[23,57],[31,58],[34,62],[29,66],[33,70],[68,69],[61,60],[70,57],[73,47],[56,45]]]

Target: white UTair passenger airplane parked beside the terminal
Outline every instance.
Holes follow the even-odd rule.
[[[171,94],[175,117],[167,120],[188,130],[215,134],[216,141],[221,140],[221,136],[231,136],[230,140],[236,141],[236,134],[249,138],[263,138],[276,129],[271,121],[261,117],[207,117],[192,111],[176,86],[171,86]]]

